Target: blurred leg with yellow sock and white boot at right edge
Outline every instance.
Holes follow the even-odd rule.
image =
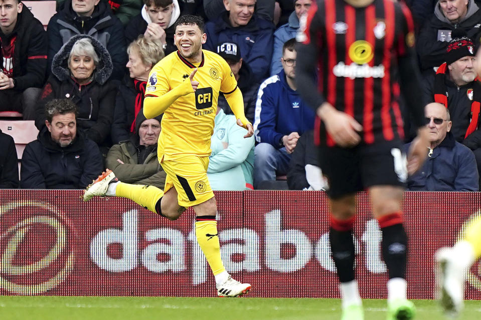
[[[470,265],[481,256],[481,215],[465,229],[465,237],[452,248],[436,253],[439,276],[439,298],[443,311],[456,316],[463,307],[464,281]]]

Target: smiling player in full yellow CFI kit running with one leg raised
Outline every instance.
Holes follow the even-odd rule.
[[[217,54],[202,50],[206,39],[202,18],[180,17],[174,35],[178,51],[158,62],[148,77],[144,116],[150,119],[164,113],[157,148],[158,161],[167,173],[164,191],[119,182],[107,169],[87,187],[84,201],[93,196],[126,197],[170,220],[194,207],[197,241],[214,273],[217,294],[240,296],[251,285],[234,280],[224,268],[217,204],[207,179],[219,92],[224,93],[237,124],[247,130],[245,137],[254,130],[244,115],[242,93],[229,65]]]

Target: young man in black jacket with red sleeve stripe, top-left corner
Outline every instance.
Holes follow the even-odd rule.
[[[47,35],[19,0],[0,0],[0,48],[0,111],[33,120],[47,72]]]

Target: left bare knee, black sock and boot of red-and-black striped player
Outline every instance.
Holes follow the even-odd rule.
[[[342,320],[362,320],[364,311],[358,283],[354,277],[354,211],[356,199],[354,195],[331,199],[332,209],[329,240],[334,263],[341,282]]]

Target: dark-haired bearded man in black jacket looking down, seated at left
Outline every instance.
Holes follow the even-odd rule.
[[[22,188],[82,189],[102,172],[99,148],[77,131],[76,109],[70,99],[54,99],[45,105],[46,127],[22,157]]]

